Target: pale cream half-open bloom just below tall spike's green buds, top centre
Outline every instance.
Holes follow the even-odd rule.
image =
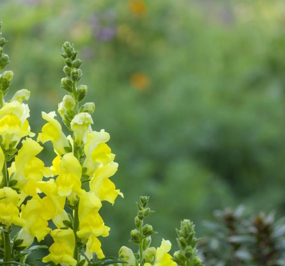
[[[80,144],[85,134],[90,129],[90,125],[93,124],[93,120],[88,113],[79,113],[71,121],[71,130],[75,135],[75,143]]]

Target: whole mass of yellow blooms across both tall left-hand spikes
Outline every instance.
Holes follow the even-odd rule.
[[[74,137],[66,136],[55,119],[55,112],[43,112],[47,123],[37,141],[51,141],[56,153],[52,166],[46,167],[37,158],[43,147],[30,138],[34,133],[30,132],[27,120],[29,107],[22,103],[23,97],[15,96],[14,99],[0,109],[1,169],[6,169],[9,151],[26,138],[21,141],[8,173],[5,170],[0,174],[3,184],[0,188],[0,223],[5,228],[12,224],[21,226],[15,240],[23,240],[21,246],[25,248],[34,238],[41,241],[51,233],[54,243],[43,262],[75,266],[76,241],[86,245],[87,257],[91,258],[95,252],[98,258],[103,258],[98,236],[108,236],[110,228],[99,214],[101,202],[114,204],[118,195],[123,196],[109,179],[118,169],[115,155],[106,144],[109,134],[104,130],[92,131],[90,115],[79,113],[71,123]],[[75,145],[81,146],[83,151],[77,158]],[[5,180],[9,180],[9,184]],[[70,228],[74,224],[65,209],[66,204],[77,207],[73,210],[73,217],[78,219],[75,232]],[[50,220],[58,229],[51,231]]]

